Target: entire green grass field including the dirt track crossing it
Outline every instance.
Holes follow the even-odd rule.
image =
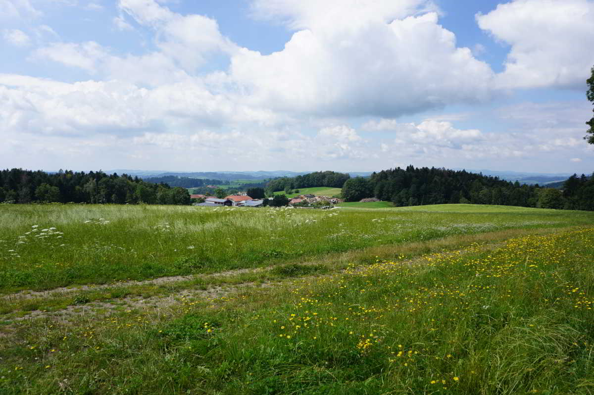
[[[3,205],[0,222],[2,394],[594,391],[594,213]]]

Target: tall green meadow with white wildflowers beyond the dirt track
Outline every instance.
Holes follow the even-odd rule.
[[[216,273],[447,236],[594,222],[586,211],[443,206],[433,212],[2,205],[0,293]]]

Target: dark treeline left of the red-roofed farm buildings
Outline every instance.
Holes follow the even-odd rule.
[[[190,204],[188,190],[153,184],[129,175],[60,170],[0,171],[0,201],[14,203]]]

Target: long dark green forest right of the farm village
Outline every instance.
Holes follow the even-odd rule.
[[[569,185],[568,185],[569,184]],[[396,168],[369,178],[350,178],[342,189],[346,201],[375,197],[394,206],[473,203],[504,206],[594,210],[594,180],[572,176],[563,191],[538,185],[520,185],[498,177],[436,168]]]

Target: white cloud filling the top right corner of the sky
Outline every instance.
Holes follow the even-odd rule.
[[[581,88],[594,64],[592,0],[514,0],[476,20],[511,45],[499,87]]]

